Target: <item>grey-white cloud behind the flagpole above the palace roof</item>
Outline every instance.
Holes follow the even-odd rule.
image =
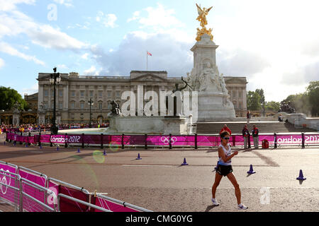
[[[189,42],[177,40],[171,33],[130,32],[116,50],[109,52],[95,46],[91,52],[103,75],[129,76],[133,70],[145,71],[146,51],[149,51],[152,57],[148,57],[148,70],[167,71],[169,76],[179,77],[186,76],[193,66],[189,49]]]

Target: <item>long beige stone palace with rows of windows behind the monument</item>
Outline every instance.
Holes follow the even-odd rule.
[[[53,112],[53,85],[51,73],[38,73],[38,122],[50,123]],[[184,85],[181,77],[169,77],[167,71],[131,71],[130,76],[79,76],[79,73],[60,73],[61,81],[56,86],[57,123],[88,123],[89,101],[91,121],[106,122],[111,111],[111,101],[118,105],[124,91],[135,93],[138,85],[143,85],[144,92],[174,90],[175,84]],[[236,117],[244,117],[247,111],[246,77],[224,76],[230,100],[235,107]],[[181,86],[180,85],[180,86]]]

